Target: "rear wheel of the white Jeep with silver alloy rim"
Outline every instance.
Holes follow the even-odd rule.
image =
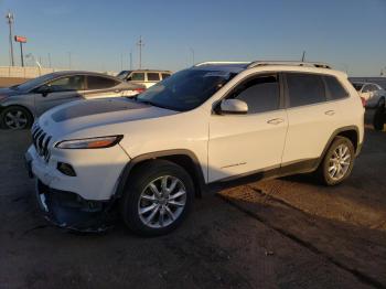
[[[336,137],[319,165],[317,173],[320,181],[325,185],[342,183],[351,175],[354,160],[355,150],[351,140],[345,137]]]

